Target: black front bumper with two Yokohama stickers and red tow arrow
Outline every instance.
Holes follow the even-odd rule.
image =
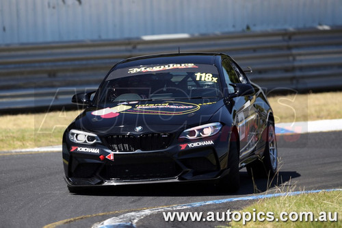
[[[90,147],[67,138],[63,143],[69,186],[215,180],[226,175],[227,157],[228,142],[219,136],[174,142],[158,151],[113,152],[103,144]]]

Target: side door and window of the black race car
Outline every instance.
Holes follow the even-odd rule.
[[[237,66],[233,60],[225,59],[222,62],[224,77],[228,86],[228,92],[234,92],[233,86],[229,83],[250,83],[241,73],[241,68]],[[255,94],[236,97],[235,108],[237,110],[235,115],[235,122],[237,123],[240,140],[240,157],[248,156],[254,150],[257,144],[257,110],[254,107],[256,100]]]

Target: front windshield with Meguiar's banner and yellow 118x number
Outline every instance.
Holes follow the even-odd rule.
[[[155,64],[118,68],[100,88],[102,104],[120,101],[220,97],[218,68],[209,64]]]

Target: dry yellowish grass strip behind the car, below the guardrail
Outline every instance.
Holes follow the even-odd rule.
[[[276,123],[342,118],[342,92],[269,97]],[[80,111],[0,116],[0,151],[62,143],[64,129]]]

